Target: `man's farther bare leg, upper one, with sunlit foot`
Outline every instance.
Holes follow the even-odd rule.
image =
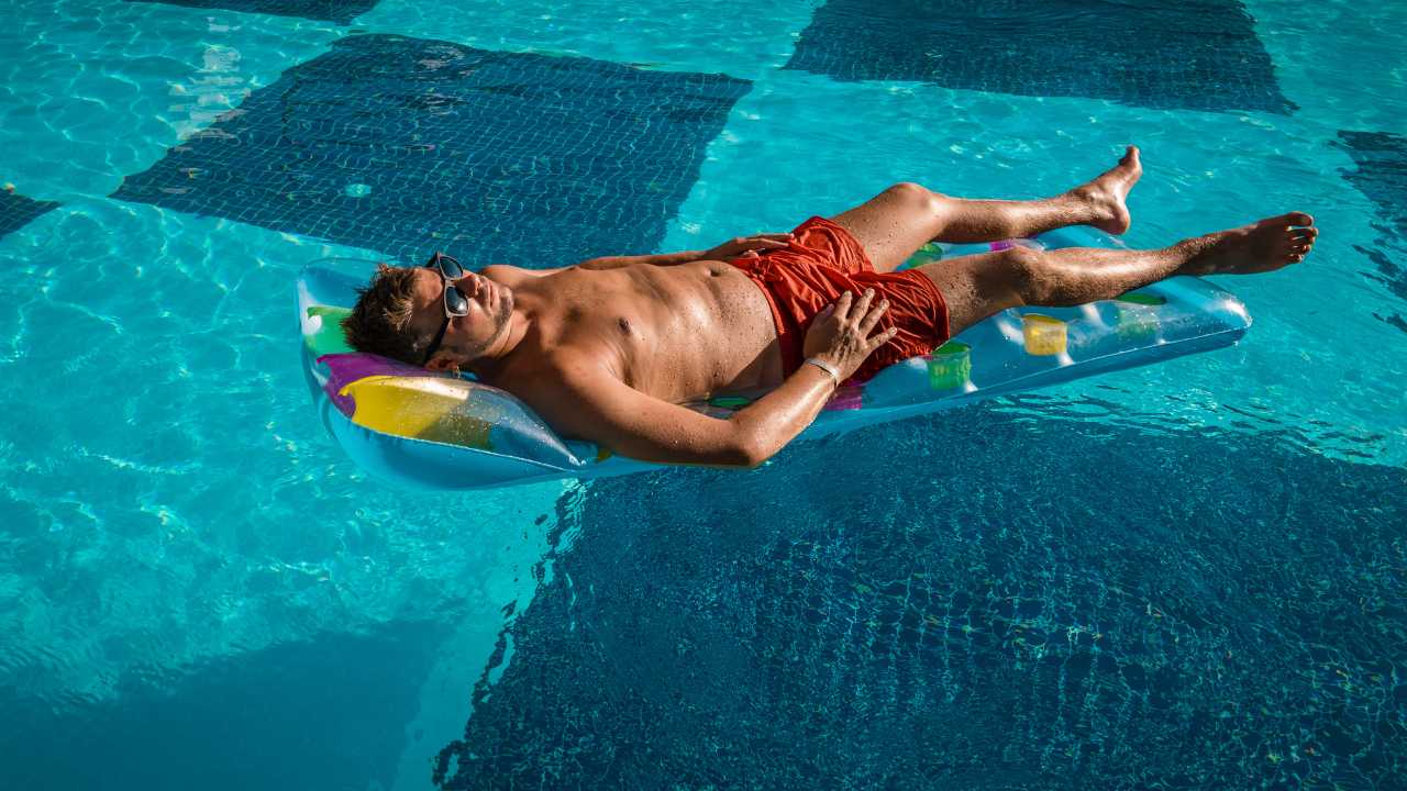
[[[902,183],[832,220],[860,241],[877,272],[893,272],[931,241],[995,242],[1065,225],[1123,234],[1128,229],[1124,198],[1141,175],[1138,149],[1128,146],[1116,167],[1052,198],[961,200]]]

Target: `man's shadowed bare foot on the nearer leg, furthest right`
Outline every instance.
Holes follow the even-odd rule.
[[[1303,211],[1266,217],[1259,222],[1207,234],[1185,242],[1192,245],[1192,259],[1182,267],[1186,274],[1254,274],[1299,263],[1314,249],[1318,228]]]

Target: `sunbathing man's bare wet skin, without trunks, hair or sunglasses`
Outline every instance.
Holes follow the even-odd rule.
[[[930,239],[996,241],[1074,224],[1123,232],[1130,222],[1126,197],[1140,175],[1138,149],[1130,146],[1113,169],[1051,198],[972,201],[900,183],[833,220],[877,272],[893,272]],[[1157,251],[1017,246],[916,272],[943,294],[957,334],[1016,305],[1113,298],[1173,274],[1272,272],[1303,260],[1316,236],[1311,217],[1290,213]],[[870,319],[871,296],[843,294],[829,318],[812,322],[803,350],[837,376],[803,365],[784,379],[767,297],[720,260],[768,246],[785,243],[753,236],[709,253],[594,259],[549,270],[484,267],[450,284],[470,310],[450,321],[426,367],[473,372],[522,398],[559,434],[625,456],[757,466],[801,434],[839,380],[881,342],[871,338],[878,321],[878,314]],[[446,281],[431,269],[415,277],[409,329],[429,338],[445,321]],[[882,311],[882,300],[875,301]],[[727,419],[678,405],[723,393],[758,397]]]

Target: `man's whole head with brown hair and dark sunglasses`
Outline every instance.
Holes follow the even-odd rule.
[[[456,291],[449,300],[447,289]],[[480,274],[464,272],[450,281],[436,266],[381,265],[371,283],[357,290],[356,307],[342,319],[342,329],[359,352],[432,370],[461,369],[499,342],[512,310],[512,291]],[[452,315],[459,312],[463,315]]]

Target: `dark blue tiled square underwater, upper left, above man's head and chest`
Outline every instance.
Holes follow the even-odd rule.
[[[750,87],[359,35],[288,69],[114,197],[419,262],[649,252]]]

